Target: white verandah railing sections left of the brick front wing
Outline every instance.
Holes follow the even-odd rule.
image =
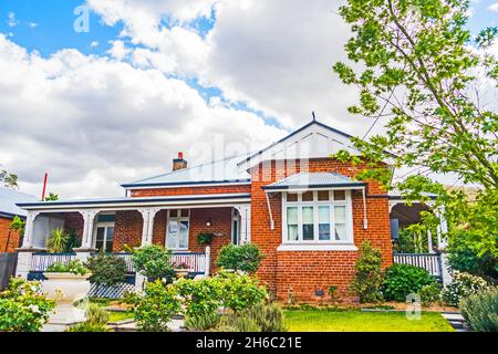
[[[134,273],[132,253],[112,253],[116,257],[123,258],[126,263],[126,271]],[[66,264],[68,262],[76,259],[75,253],[35,253],[31,260],[31,271],[44,272],[46,269],[55,263],[60,262]],[[203,252],[174,252],[172,263],[187,264],[193,273],[204,274],[206,272],[207,254]]]

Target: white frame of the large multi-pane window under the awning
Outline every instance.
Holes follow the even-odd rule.
[[[318,200],[318,191],[319,190],[328,190],[329,191],[329,200]],[[334,191],[344,190],[345,200],[334,200]],[[312,191],[313,192],[313,201],[302,201],[302,195],[304,192]],[[288,194],[297,194],[298,201],[288,201]],[[319,207],[328,206],[330,207],[330,240],[320,240],[319,239]],[[345,240],[335,240],[335,212],[334,207],[344,206],[345,207]],[[298,240],[291,241],[288,239],[288,225],[287,225],[287,208],[288,207],[297,207],[298,208]],[[313,240],[303,240],[303,231],[302,231],[302,208],[303,207],[313,207]],[[356,250],[354,247],[354,231],[353,231],[353,200],[352,200],[352,191],[351,189],[343,188],[334,188],[334,189],[313,189],[313,190],[299,190],[299,191],[284,191],[282,192],[282,250],[292,250],[299,249],[299,246],[311,246],[310,250],[320,249],[321,247],[328,248],[328,246],[333,246],[331,249],[334,249],[335,246],[350,246],[343,248],[344,250]],[[290,246],[287,247],[286,246]],[[297,248],[292,248],[297,246]],[[352,246],[352,247],[351,247]],[[339,248],[340,249],[340,248]]]

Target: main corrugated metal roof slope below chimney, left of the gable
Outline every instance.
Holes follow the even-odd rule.
[[[247,155],[193,166],[131,184],[124,184],[123,187],[249,181],[249,174],[245,170],[240,171],[237,166],[237,163],[245,157]]]

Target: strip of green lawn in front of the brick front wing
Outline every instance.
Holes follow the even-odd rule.
[[[408,320],[404,312],[286,311],[290,332],[454,332],[439,313],[423,312]]]

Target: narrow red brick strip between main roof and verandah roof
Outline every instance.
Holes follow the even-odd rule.
[[[132,197],[159,197],[159,196],[188,196],[188,195],[215,195],[228,192],[250,192],[250,185],[216,186],[216,187],[178,187],[136,189],[131,191]]]

